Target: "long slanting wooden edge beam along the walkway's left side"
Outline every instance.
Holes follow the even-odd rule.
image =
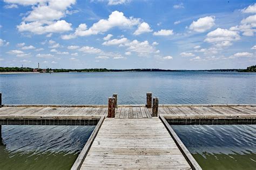
[[[84,145],[83,150],[80,152],[75,163],[71,167],[72,170],[78,170],[82,166],[83,161],[84,161],[87,153],[89,152],[91,145],[92,145],[93,141],[95,140],[95,137],[97,136],[100,127],[102,126],[102,124],[104,122],[104,119],[105,119],[105,116],[100,118],[100,120],[99,120],[98,124],[96,125],[95,129],[93,130],[90,138],[87,140],[86,144]]]

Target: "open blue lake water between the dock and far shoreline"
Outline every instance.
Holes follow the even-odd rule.
[[[116,72],[0,75],[4,104],[253,104],[256,74],[233,72]]]

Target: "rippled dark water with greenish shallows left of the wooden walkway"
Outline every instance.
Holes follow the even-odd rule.
[[[0,169],[70,169],[94,128],[2,125]]]

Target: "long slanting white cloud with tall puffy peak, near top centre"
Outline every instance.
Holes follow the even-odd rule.
[[[64,35],[62,39],[76,38],[77,36],[91,36],[98,33],[104,33],[109,31],[113,27],[130,28],[134,25],[138,25],[140,19],[138,18],[126,18],[123,12],[113,11],[108,19],[100,19],[97,23],[93,24],[87,29],[86,24],[80,24],[75,33]]]

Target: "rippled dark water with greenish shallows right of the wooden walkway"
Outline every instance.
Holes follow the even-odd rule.
[[[172,125],[203,169],[255,169],[256,125]]]

